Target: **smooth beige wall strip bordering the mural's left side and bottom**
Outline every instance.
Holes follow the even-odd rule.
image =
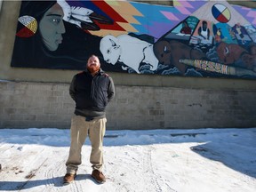
[[[154,1],[158,3],[157,1]],[[154,3],[152,1],[152,3]],[[0,79],[11,81],[69,83],[77,71],[44,68],[11,68],[20,1],[4,1],[0,12]],[[171,86],[207,89],[251,89],[255,81],[236,79],[210,79],[183,76],[146,76],[124,73],[109,73],[120,85]]]

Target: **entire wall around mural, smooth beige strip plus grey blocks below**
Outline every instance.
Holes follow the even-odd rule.
[[[68,128],[74,70],[11,68],[20,1],[0,11],[0,128]],[[255,127],[252,80],[109,73],[116,98],[108,129]]]

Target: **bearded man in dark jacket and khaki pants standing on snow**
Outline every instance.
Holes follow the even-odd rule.
[[[103,137],[107,122],[105,108],[115,96],[115,86],[112,78],[100,68],[97,56],[92,55],[89,58],[86,69],[73,77],[69,88],[69,94],[76,102],[76,109],[71,120],[71,146],[64,184],[76,178],[78,165],[82,164],[81,149],[87,135],[92,143],[92,178],[99,183],[106,181],[102,173]]]

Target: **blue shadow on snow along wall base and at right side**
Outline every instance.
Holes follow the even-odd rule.
[[[5,133],[4,133],[5,132]],[[9,135],[10,134],[10,135]],[[54,147],[68,147],[69,130],[27,129],[0,130],[0,143],[39,144]],[[221,162],[237,172],[256,178],[256,128],[248,129],[194,129],[194,130],[147,130],[147,131],[107,131],[104,138],[105,147],[127,145],[154,145],[192,142],[190,149],[213,161]],[[3,136],[2,136],[3,137]],[[84,145],[90,145],[89,138]],[[0,149],[1,152],[1,149]],[[38,183],[58,179],[37,180]],[[29,181],[30,182],[30,181]],[[2,189],[3,182],[0,182]],[[22,182],[20,182],[20,185]],[[30,185],[30,184],[29,184]],[[17,186],[19,186],[17,184]]]

